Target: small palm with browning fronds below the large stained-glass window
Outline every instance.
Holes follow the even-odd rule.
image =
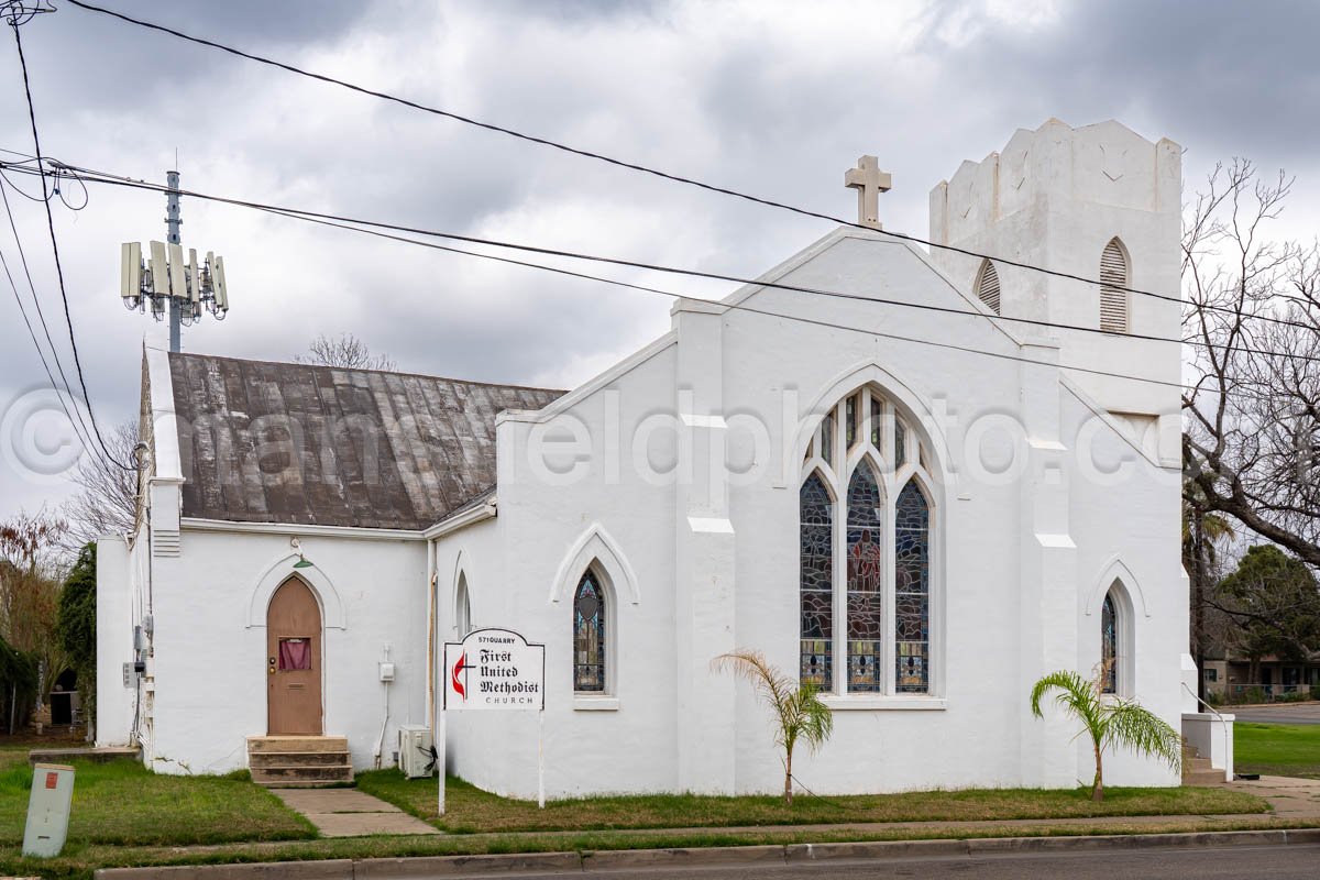
[[[746,678],[775,712],[775,744],[784,749],[784,803],[793,803],[793,747],[799,740],[810,751],[820,748],[834,731],[834,716],[821,702],[816,685],[799,682],[767,662],[759,650],[735,650],[710,661],[717,672],[731,670]]]

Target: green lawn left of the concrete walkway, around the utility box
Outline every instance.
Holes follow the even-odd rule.
[[[240,776],[162,776],[136,761],[74,764],[69,843],[190,846],[314,838],[315,829]],[[28,747],[0,748],[0,850],[22,843]]]

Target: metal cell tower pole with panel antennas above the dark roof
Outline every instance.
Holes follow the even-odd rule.
[[[224,321],[230,311],[230,293],[224,284],[224,257],[207,251],[206,261],[198,263],[197,251],[189,248],[183,259],[183,243],[180,227],[178,172],[165,172],[165,237],[166,241],[150,241],[150,259],[143,259],[140,241],[125,241],[121,245],[121,270],[119,296],[129,311],[145,313],[150,307],[152,318],[169,318],[169,350],[182,348],[183,327],[202,319],[202,311],[210,311],[216,321]]]

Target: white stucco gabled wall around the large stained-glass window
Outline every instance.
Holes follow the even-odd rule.
[[[886,298],[969,305],[904,245],[838,234],[821,251],[783,281],[865,296],[875,289],[874,278],[883,277]],[[804,301],[800,294],[779,290],[756,293],[754,302],[770,311],[809,311],[843,326],[902,327],[903,335],[917,339],[1027,356],[989,321],[950,332],[946,315],[913,314],[898,306]],[[931,449],[944,450],[935,515],[940,528],[932,695],[836,698],[833,739],[816,756],[797,756],[797,774],[814,790],[1067,786],[1089,780],[1090,756],[1072,740],[1076,727],[1052,712],[1045,720],[1034,719],[1027,697],[1031,683],[1047,672],[1072,668],[1089,674],[1098,662],[1104,592],[1097,594],[1096,584],[1118,573],[1133,581],[1129,590],[1138,608],[1127,620],[1135,661],[1127,658],[1131,683],[1125,690],[1177,727],[1176,670],[1185,650],[1187,612],[1185,586],[1179,578],[1176,468],[1170,483],[1164,479],[1168,474],[1123,439],[1098,405],[1061,384],[1060,371],[1048,363],[1057,358],[1056,343],[1030,350],[1047,363],[1027,367],[966,352],[932,356],[919,343],[882,340],[878,346],[866,334],[729,311],[717,318],[718,389],[702,388],[698,379],[689,385],[692,394],[684,397],[676,385],[684,392],[688,388],[675,376],[684,360],[681,347],[690,338],[689,318],[680,309],[677,348],[661,348],[644,363],[607,376],[599,387],[589,385],[570,397],[554,420],[508,416],[502,424],[499,519],[470,540],[482,546],[479,555],[503,566],[495,575],[507,591],[500,625],[549,645],[546,785],[552,796],[659,788],[772,792],[781,785],[764,707],[747,687],[730,689],[727,677],[705,670],[718,653],[710,645],[688,643],[693,656],[685,664],[682,629],[693,600],[685,600],[677,588],[686,577],[682,566],[700,574],[702,565],[715,565],[710,559],[685,563],[667,538],[676,533],[681,544],[682,530],[690,528],[680,521],[686,520],[680,507],[685,496],[677,487],[651,486],[632,470],[636,453],[628,443],[643,418],[693,410],[714,393],[722,400],[723,414],[752,414],[768,426],[770,456],[776,466],[785,442],[780,417],[785,396],[792,400],[796,422],[817,400],[828,406],[867,381],[883,387],[891,400],[925,422]],[[698,306],[693,319],[709,321],[708,309]],[[705,329],[696,336],[709,342]],[[612,430],[606,414],[615,410],[622,437],[616,458],[623,463],[618,472],[611,470],[610,456],[574,447],[576,456],[556,460],[568,470],[579,459],[581,474],[557,478],[558,484],[546,488],[544,475],[539,478],[527,464],[532,431],[546,430],[539,427],[545,424],[557,426],[549,429],[550,437],[568,438],[576,421],[579,442],[586,441],[591,450],[606,449],[612,442],[606,437]],[[1001,438],[1020,456],[1022,472],[1008,478],[989,472],[999,464],[981,463],[983,451],[989,450],[991,459],[999,451],[995,431],[972,430],[997,418],[1020,425],[1020,434],[1007,430]],[[700,431],[693,434],[700,450],[705,441]],[[748,460],[751,443],[743,434],[737,429],[727,433],[734,462]],[[652,435],[652,441],[649,456],[671,460],[673,433]],[[800,462],[801,447],[793,446],[792,437],[788,442],[788,460]],[[1119,459],[1126,470],[1115,483],[1101,471]],[[727,521],[735,536],[727,644],[763,650],[772,662],[792,670],[797,665],[799,613],[796,464],[789,471],[787,478],[770,472],[751,486],[727,489]],[[700,476],[694,482],[700,483]],[[689,487],[688,495],[709,488]],[[618,710],[609,712],[572,707],[570,612],[546,595],[564,548],[595,526],[614,538],[640,573],[642,584],[636,606],[615,596],[620,612],[611,644],[619,654]],[[446,541],[458,544],[463,536]],[[579,574],[581,569],[576,570],[569,581],[576,582]],[[713,577],[715,583],[722,575]],[[717,615],[719,611],[715,608]],[[480,623],[495,621],[483,617]],[[682,691],[678,677],[684,669],[692,670],[698,689],[731,690],[733,711],[708,708],[700,726],[685,727],[680,710],[676,723],[680,695],[671,689]],[[675,670],[673,678],[669,670]],[[527,716],[511,723],[455,723],[450,728],[454,767],[483,788],[529,797],[536,780],[533,722]],[[731,738],[726,740],[733,743],[731,772],[685,777],[678,760],[676,773],[684,738],[697,738],[694,748],[711,749],[722,738]],[[620,760],[635,755],[647,759],[630,759],[627,772],[620,772]],[[1171,772],[1125,755],[1109,759],[1106,776],[1114,784],[1176,784]]]

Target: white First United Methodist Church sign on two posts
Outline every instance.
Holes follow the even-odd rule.
[[[445,643],[445,701],[440,712],[440,814],[445,814],[445,715],[457,711],[536,711],[536,801],[545,807],[545,645],[512,629],[474,629]]]

